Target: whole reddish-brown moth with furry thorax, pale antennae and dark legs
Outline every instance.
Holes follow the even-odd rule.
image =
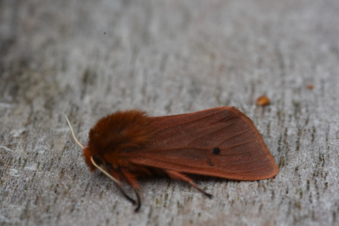
[[[97,121],[85,147],[76,142],[90,171],[100,169],[111,178],[121,194],[137,204],[136,211],[141,207],[137,184],[141,177],[168,176],[211,198],[187,174],[244,181],[278,174],[261,134],[235,107],[164,117],[149,117],[139,109],[119,110]],[[137,201],[124,192],[121,181],[131,186]]]

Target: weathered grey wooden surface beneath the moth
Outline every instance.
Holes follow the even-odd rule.
[[[0,224],[339,225],[338,12],[337,0],[0,1]],[[194,177],[213,199],[141,180],[140,213],[88,171],[62,114],[85,144],[117,109],[228,105],[254,121],[278,176]]]

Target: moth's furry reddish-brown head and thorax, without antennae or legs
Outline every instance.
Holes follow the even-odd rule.
[[[95,162],[104,167],[109,164],[113,169],[129,165],[124,153],[143,148],[150,142],[150,117],[145,112],[132,109],[117,111],[99,119],[88,133],[88,145],[83,149],[85,162],[90,170],[95,166],[90,157],[95,156]],[[100,162],[101,160],[101,162]]]

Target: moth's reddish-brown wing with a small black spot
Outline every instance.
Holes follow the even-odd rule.
[[[278,174],[261,134],[235,107],[153,117],[153,142],[124,153],[136,165],[237,180]]]

